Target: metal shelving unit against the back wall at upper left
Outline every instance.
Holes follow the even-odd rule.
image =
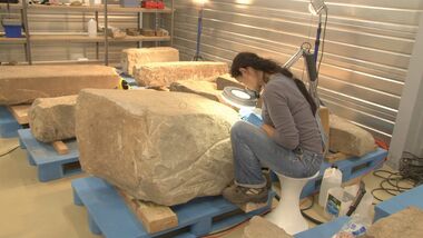
[[[96,57],[97,61],[99,60],[99,43],[105,43],[105,65],[109,65],[109,43],[110,42],[138,42],[138,47],[140,47],[140,42],[160,42],[160,41],[169,41],[170,44],[173,44],[173,36],[174,36],[174,0],[169,1],[170,6],[166,7],[165,9],[144,9],[144,8],[122,8],[117,4],[108,4],[107,1],[105,1],[105,4],[101,6],[42,6],[42,4],[31,4],[28,6],[26,1],[22,1],[22,3],[18,4],[10,4],[11,10],[20,10],[21,17],[22,17],[22,23],[23,23],[23,31],[24,36],[22,38],[6,38],[3,36],[0,36],[0,43],[23,43],[24,50],[26,50],[26,60],[29,65],[32,65],[32,57],[31,57],[31,43],[33,42],[75,42],[75,43],[83,43],[83,42],[94,42],[96,43]],[[6,3],[0,3],[0,10],[7,9]],[[104,21],[105,21],[105,29],[108,27],[108,13],[137,13],[138,16],[138,28],[140,28],[140,19],[142,13],[154,13],[156,18],[156,26],[155,28],[158,28],[158,16],[164,14],[170,14],[170,29],[169,29],[169,36],[167,37],[146,37],[146,36],[127,36],[122,39],[114,39],[107,36],[107,32],[104,32],[104,36],[99,34],[97,37],[90,38],[86,34],[32,34],[29,32],[28,28],[28,11],[38,11],[38,10],[55,10],[57,11],[78,11],[78,12],[95,12],[95,18],[98,24],[98,13],[104,12]],[[98,26],[97,26],[98,27]],[[90,60],[96,61],[96,60]],[[53,61],[51,61],[53,62]],[[62,62],[62,61],[61,61]],[[73,61],[69,61],[73,62]],[[37,62],[36,62],[37,63]]]

